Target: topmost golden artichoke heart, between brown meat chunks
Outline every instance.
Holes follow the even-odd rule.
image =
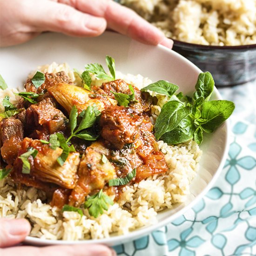
[[[90,92],[84,88],[58,83],[48,88],[48,92],[55,98],[58,103],[70,113],[73,106],[76,106],[78,113],[81,113],[89,105],[96,104],[97,108],[102,111],[107,106],[116,105],[117,101],[102,95]]]

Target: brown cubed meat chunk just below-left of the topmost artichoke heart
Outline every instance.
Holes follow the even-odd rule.
[[[67,118],[61,110],[54,108],[51,99],[46,98],[37,104],[31,105],[26,111],[27,130],[46,130],[53,134],[66,128]]]

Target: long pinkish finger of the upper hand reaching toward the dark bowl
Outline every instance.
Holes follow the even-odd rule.
[[[82,12],[103,17],[108,22],[108,28],[142,43],[152,45],[162,43],[164,46],[172,48],[173,41],[167,39],[159,29],[131,9],[123,7],[113,0],[59,0],[59,2],[71,5]]]

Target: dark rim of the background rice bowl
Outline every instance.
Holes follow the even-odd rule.
[[[175,46],[184,45],[187,47],[197,47],[202,49],[212,49],[212,50],[249,50],[252,48],[256,48],[256,44],[250,44],[250,45],[235,45],[235,46],[219,46],[219,45],[201,45],[201,44],[195,44],[195,43],[188,43],[180,40],[176,40],[173,38],[170,38],[174,41]]]

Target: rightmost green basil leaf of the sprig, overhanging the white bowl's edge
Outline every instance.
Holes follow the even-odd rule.
[[[202,124],[206,132],[213,132],[233,113],[235,104],[232,101],[207,101],[202,105],[202,119],[208,122]]]

